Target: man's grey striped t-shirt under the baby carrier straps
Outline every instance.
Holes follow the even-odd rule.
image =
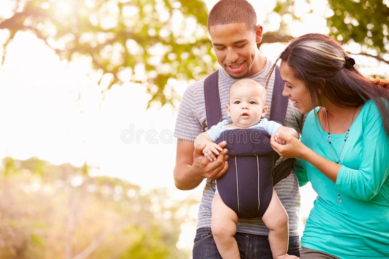
[[[258,81],[265,86],[267,75],[272,65],[273,63],[267,61],[265,68],[262,71],[249,78]],[[219,69],[219,95],[222,119],[229,118],[225,106],[229,102],[229,89],[234,81],[236,81],[236,79],[231,78],[223,68]],[[267,86],[266,105],[269,107],[265,116],[267,119],[269,119],[271,110],[273,84],[274,71]],[[302,115],[293,106],[291,101],[288,103],[284,126],[292,127],[298,132],[301,132]],[[190,85],[182,97],[174,136],[178,139],[194,142],[196,136],[207,129],[204,80],[201,80]],[[294,172],[276,184],[274,189],[289,216],[289,236],[298,236],[299,233],[297,228],[299,224],[298,213],[300,210],[300,192],[299,182]],[[199,207],[197,228],[211,227],[211,204],[214,192],[215,181],[207,179]],[[265,227],[261,218],[239,219],[237,231],[256,235],[268,235],[268,229]]]

